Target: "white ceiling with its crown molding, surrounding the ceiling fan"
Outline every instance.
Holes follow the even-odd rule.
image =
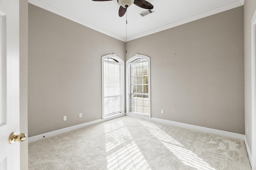
[[[244,4],[244,0],[147,0],[154,13],[140,16],[145,9],[132,4],[127,9],[127,41],[169,29]],[[126,41],[126,15],[118,16],[117,0],[28,0],[40,8]]]

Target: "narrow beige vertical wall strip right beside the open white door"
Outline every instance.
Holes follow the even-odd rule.
[[[28,134],[28,0],[20,0],[20,133]],[[28,169],[28,140],[20,143],[20,170]]]

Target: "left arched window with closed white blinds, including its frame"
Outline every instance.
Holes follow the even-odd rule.
[[[102,57],[102,118],[124,113],[124,61],[115,54]]]

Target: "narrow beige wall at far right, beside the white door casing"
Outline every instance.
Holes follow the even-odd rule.
[[[256,10],[255,0],[244,2],[244,79],[245,79],[245,132],[246,140],[252,152],[252,33],[251,22]]]

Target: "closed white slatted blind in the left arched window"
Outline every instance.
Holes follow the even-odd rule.
[[[104,60],[104,116],[122,112],[122,63]]]

